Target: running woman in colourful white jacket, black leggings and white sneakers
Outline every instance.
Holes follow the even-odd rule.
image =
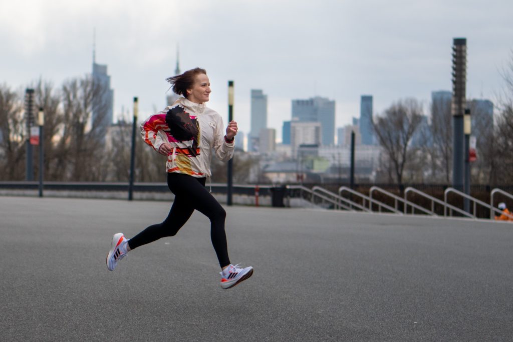
[[[224,134],[221,115],[205,106],[211,92],[205,69],[191,69],[166,81],[176,94],[184,97],[151,115],[141,125],[141,134],[146,144],[167,157],[167,185],[175,196],[174,202],[164,222],[151,225],[130,239],[123,233],[114,234],[107,268],[113,271],[119,260],[139,246],[176,235],[192,212],[198,210],[210,219],[210,238],[221,266],[221,287],[229,289],[249,278],[253,268],[230,263],[226,212],[205,188],[205,180],[211,175],[211,151],[224,162],[233,157],[237,123],[229,122]]]

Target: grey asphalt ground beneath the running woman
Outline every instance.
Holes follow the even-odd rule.
[[[241,285],[200,213],[109,272],[112,235],[168,208],[0,197],[0,340],[513,340],[513,224],[230,207]]]

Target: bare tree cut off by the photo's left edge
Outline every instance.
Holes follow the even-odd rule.
[[[21,180],[25,170],[25,119],[19,95],[0,85],[0,179]]]

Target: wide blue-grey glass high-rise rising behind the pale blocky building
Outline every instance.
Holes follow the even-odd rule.
[[[324,97],[292,100],[292,119],[299,122],[321,124],[322,141],[325,146],[335,143],[335,102]]]

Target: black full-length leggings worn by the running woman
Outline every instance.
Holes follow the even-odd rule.
[[[206,178],[196,178],[181,173],[168,173],[167,186],[174,194],[174,202],[163,223],[149,226],[132,237],[130,249],[149,244],[165,236],[174,236],[187,222],[192,212],[198,210],[210,219],[210,238],[219,265],[230,265],[228,245],[226,243],[226,211],[219,202],[205,189]]]

